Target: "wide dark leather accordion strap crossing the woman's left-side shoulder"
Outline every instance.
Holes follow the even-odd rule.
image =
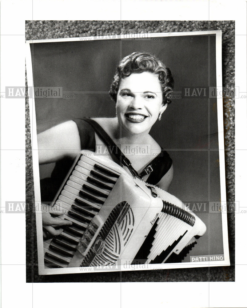
[[[98,136],[106,143],[109,148],[115,148],[115,151],[110,151],[117,158],[120,166],[126,166],[133,176],[138,176],[137,171],[132,167],[129,159],[121,152],[120,148],[115,144],[115,142],[110,138],[110,136],[104,131],[104,129],[94,120],[89,118],[84,118],[84,120],[89,123],[98,134]]]

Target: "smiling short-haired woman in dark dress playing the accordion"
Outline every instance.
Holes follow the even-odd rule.
[[[122,166],[127,172],[133,175],[134,169],[147,183],[167,191],[173,178],[172,160],[149,132],[171,102],[172,90],[171,72],[155,56],[134,52],[122,59],[110,87],[116,103],[115,118],[74,119],[38,135],[39,163],[56,162],[51,179],[41,181],[42,201],[54,198],[81,149],[96,151],[112,144],[129,159],[132,169]],[[133,151],[141,148],[145,151]],[[113,151],[104,152],[118,162],[115,155]],[[43,225],[48,233],[58,235],[62,229],[52,227],[54,219],[44,215]],[[58,224],[59,218],[56,220]]]

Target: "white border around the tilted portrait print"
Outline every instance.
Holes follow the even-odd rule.
[[[141,33],[131,34],[131,37],[139,38],[143,35],[148,37],[168,37],[168,36],[183,36],[183,35],[202,35],[202,34],[216,34],[216,77],[217,87],[222,87],[222,59],[221,59],[221,30],[210,31],[191,31],[191,32],[171,32],[171,33]],[[117,39],[126,39],[127,34],[117,35]],[[41,39],[41,40],[29,40],[26,41],[26,71],[27,71],[27,83],[29,87],[33,87],[32,78],[32,62],[31,62],[31,49],[30,44],[33,43],[53,43],[53,42],[71,42],[85,40],[107,40],[116,39],[116,36],[86,36],[77,38],[61,38],[61,39]],[[41,203],[40,195],[40,183],[39,183],[39,165],[38,165],[38,144],[37,144],[37,130],[36,130],[36,116],[35,116],[35,104],[34,104],[34,91],[32,98],[29,98],[30,109],[30,127],[31,127],[31,143],[32,143],[32,157],[33,157],[33,173],[34,173],[34,195],[35,203]],[[226,186],[225,186],[225,150],[224,150],[224,123],[223,123],[223,103],[222,98],[217,97],[217,119],[218,119],[218,142],[219,142],[219,165],[220,165],[220,187],[221,187],[221,203],[226,203]],[[210,262],[184,262],[184,263],[165,263],[165,264],[150,264],[149,268],[140,268],[135,266],[135,270],[152,270],[154,268],[162,269],[174,269],[174,268],[194,268],[194,267],[206,267],[206,266],[228,266],[229,260],[229,248],[228,248],[228,231],[227,231],[227,213],[221,213],[222,218],[222,233],[223,233],[223,249],[224,249],[224,261],[210,261]],[[87,268],[62,268],[62,269],[45,269],[44,268],[44,252],[43,252],[43,235],[42,235],[42,217],[41,213],[36,212],[36,229],[37,229],[37,243],[38,243],[38,270],[39,275],[46,274],[73,274],[73,273],[88,273]],[[123,266],[121,271],[126,271]],[[110,270],[109,270],[110,271]],[[97,270],[97,272],[106,272],[106,270]]]

